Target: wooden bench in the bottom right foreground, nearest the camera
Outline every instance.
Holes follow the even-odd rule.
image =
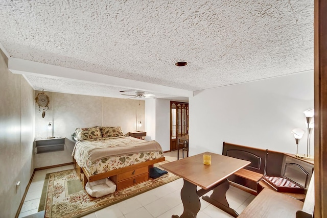
[[[238,218],[312,218],[313,214],[314,175],[311,177],[304,203],[281,192],[264,188],[243,210]]]

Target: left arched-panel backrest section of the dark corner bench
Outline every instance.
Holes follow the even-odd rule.
[[[244,167],[245,169],[264,174],[266,150],[223,142],[223,155],[250,161],[251,163]]]

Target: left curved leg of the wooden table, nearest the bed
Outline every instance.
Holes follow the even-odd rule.
[[[184,180],[183,188],[180,191],[180,197],[184,206],[184,211],[180,218],[196,218],[196,214],[200,211],[201,207],[196,185]],[[172,215],[172,218],[179,218],[179,216]]]

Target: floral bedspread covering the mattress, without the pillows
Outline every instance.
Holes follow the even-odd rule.
[[[155,142],[157,143],[157,142]],[[132,153],[126,152],[127,147],[133,147]],[[149,149],[152,147],[152,150]],[[101,154],[103,149],[112,148],[114,155],[106,152],[107,156],[101,158],[90,158],[90,151]],[[122,148],[122,154],[117,153]],[[140,148],[139,152],[135,148]],[[102,149],[102,150],[101,150]],[[90,175],[111,171],[125,166],[145,162],[163,157],[161,147],[158,143],[149,146],[149,142],[136,139],[131,136],[119,136],[112,138],[90,139],[78,141],[75,144],[72,156],[79,166],[85,167]],[[97,156],[98,157],[98,156]]]

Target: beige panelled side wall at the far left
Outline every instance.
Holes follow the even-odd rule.
[[[33,89],[0,54],[0,216],[14,217],[33,172]]]

